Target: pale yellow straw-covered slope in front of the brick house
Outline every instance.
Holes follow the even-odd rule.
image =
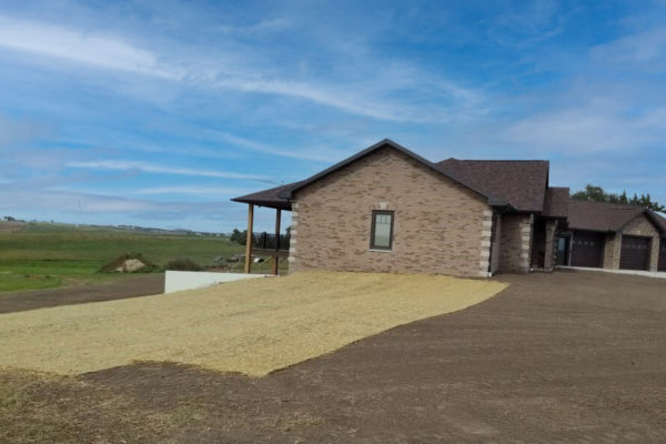
[[[448,276],[299,273],[0,315],[0,366],[79,374],[134,361],[261,376],[506,285]]]

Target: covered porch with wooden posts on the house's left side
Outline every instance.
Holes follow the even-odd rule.
[[[232,199],[234,202],[248,204],[248,235],[245,238],[244,272],[252,273],[252,260],[256,256],[272,258],[272,270],[274,275],[280,273],[280,261],[289,259],[291,235],[289,229],[282,230],[282,212],[292,211],[291,202],[280,194],[291,185],[276,186],[259,193],[248,194]],[[254,232],[255,209],[268,208],[275,210],[275,229],[272,233]]]

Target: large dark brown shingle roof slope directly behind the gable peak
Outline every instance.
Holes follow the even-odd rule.
[[[446,159],[436,164],[518,211],[544,209],[548,161]]]

